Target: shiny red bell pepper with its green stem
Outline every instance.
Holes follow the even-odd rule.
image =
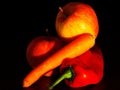
[[[72,88],[99,83],[104,74],[104,61],[101,49],[93,47],[76,58],[65,59],[60,66],[60,73],[62,76],[51,84],[49,89],[54,88],[64,79],[65,83]]]

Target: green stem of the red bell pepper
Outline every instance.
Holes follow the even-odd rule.
[[[73,77],[72,67],[69,67],[62,76],[60,76],[54,83],[52,83],[51,85],[48,86],[48,89],[51,90],[57,84],[59,84],[62,80],[71,79],[72,77]]]

